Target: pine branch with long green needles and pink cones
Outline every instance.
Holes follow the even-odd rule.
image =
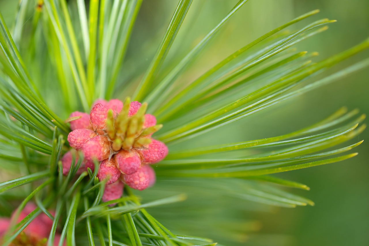
[[[272,174],[356,156],[359,110],[257,140],[214,143],[205,133],[366,68],[369,59],[329,70],[369,39],[312,62],[315,52],[291,47],[334,22],[314,10],[183,82],[247,2],[170,60],[200,4],[179,0],[147,67],[126,58],[142,0],[22,0],[11,28],[0,14],[1,244],[237,245],[258,227],[242,218],[254,202],[314,205],[289,192],[307,185]]]

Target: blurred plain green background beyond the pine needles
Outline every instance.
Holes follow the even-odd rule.
[[[236,2],[194,0],[187,15],[190,18],[184,21],[177,37],[180,42],[173,44],[173,51],[176,52],[170,52],[168,60],[176,61],[174,54],[179,56],[178,59],[186,54]],[[126,63],[125,76],[134,78],[134,74],[139,74],[147,67],[176,3],[174,0],[144,0],[127,54],[127,60],[132,62]],[[16,6],[17,1],[0,0],[1,13],[8,23],[15,16]],[[227,54],[314,9],[320,9],[321,12],[308,21],[326,17],[338,22],[331,24],[328,31],[298,44],[299,51],[317,51],[320,58],[325,58],[369,37],[368,0],[250,0],[209,44],[199,57],[196,68],[190,70],[187,76],[196,78],[201,71]],[[368,55],[369,52],[362,52],[345,63],[351,64]],[[338,71],[345,63],[331,71]],[[170,68],[172,65],[168,62],[165,66]],[[369,70],[366,69],[249,116],[233,124],[232,133],[229,129],[222,130],[225,132],[224,141],[227,141],[225,135],[234,141],[277,136],[323,119],[341,106],[359,108],[368,115],[368,78]],[[181,79],[185,80],[186,77]],[[355,149],[359,152],[355,158],[278,175],[307,184],[310,191],[294,192],[312,199],[315,206],[275,208],[268,213],[255,212],[249,215],[261,223],[258,232],[246,235],[244,245],[368,245],[369,130],[364,131],[357,140],[362,139],[364,143]],[[155,211],[152,213],[155,214]]]

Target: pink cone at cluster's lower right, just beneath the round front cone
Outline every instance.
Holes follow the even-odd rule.
[[[150,184],[152,185],[155,183],[155,180],[152,180],[152,171],[154,170],[152,170],[152,167],[149,165],[141,165],[141,168],[139,168],[134,174],[124,174],[123,179],[129,187],[142,191],[148,188]]]

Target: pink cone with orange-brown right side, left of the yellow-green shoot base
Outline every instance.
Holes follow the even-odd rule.
[[[83,144],[82,153],[88,161],[93,161],[94,159],[102,161],[109,157],[110,145],[111,143],[107,137],[99,135]]]

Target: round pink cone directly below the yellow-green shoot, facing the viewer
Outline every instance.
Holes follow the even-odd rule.
[[[123,174],[134,174],[141,167],[141,159],[134,150],[120,150],[115,155],[115,164]]]

